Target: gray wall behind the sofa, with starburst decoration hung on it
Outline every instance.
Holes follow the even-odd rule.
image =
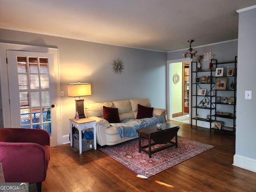
[[[84,104],[113,100],[149,98],[155,108],[166,108],[166,56],[135,48],[125,48],[68,38],[0,29],[0,42],[58,48],[62,135],[69,134],[69,118],[75,114],[74,98],[67,96],[67,83],[92,84],[92,96]],[[120,58],[124,71],[112,72],[111,62]]]

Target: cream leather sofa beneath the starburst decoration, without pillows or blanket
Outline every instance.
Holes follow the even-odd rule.
[[[119,118],[120,121],[122,121],[127,118],[136,119],[138,104],[146,107],[151,107],[149,99],[119,100],[113,102],[87,104],[84,106],[86,117],[90,117],[96,120],[96,137],[97,143],[100,146],[115,145],[138,137],[136,136],[120,138],[116,128],[111,126],[110,123],[103,118],[103,106],[118,108]],[[153,115],[162,115],[164,116],[164,118],[166,118],[166,110],[154,108]]]

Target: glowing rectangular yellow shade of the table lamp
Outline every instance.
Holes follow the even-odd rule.
[[[90,83],[70,83],[68,84],[69,97],[82,97],[91,95]]]

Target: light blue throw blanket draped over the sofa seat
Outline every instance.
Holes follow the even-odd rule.
[[[166,118],[162,115],[153,115],[151,118],[143,119],[124,119],[120,123],[110,123],[111,126],[115,127],[120,138],[122,137],[136,137],[139,128],[149,127],[158,123],[165,123]]]

